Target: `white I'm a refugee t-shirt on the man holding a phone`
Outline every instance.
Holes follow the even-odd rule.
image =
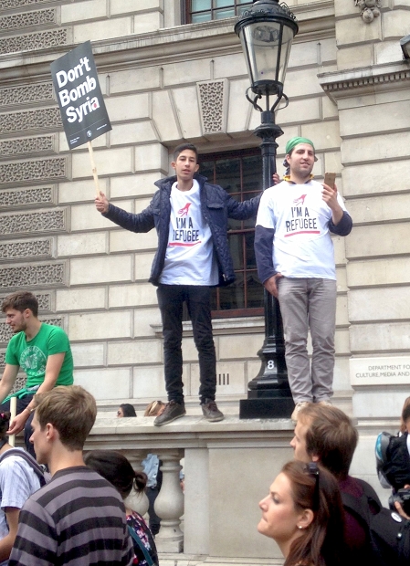
[[[322,190],[316,181],[282,181],[262,194],[257,225],[275,229],[273,266],[285,277],[336,279],[331,209]],[[346,210],[341,195],[337,198]]]

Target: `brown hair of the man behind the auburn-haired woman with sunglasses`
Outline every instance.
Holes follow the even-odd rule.
[[[358,441],[357,430],[347,414],[332,405],[310,403],[300,409],[298,421],[309,425],[308,455],[317,456],[321,466],[338,479],[347,477]]]

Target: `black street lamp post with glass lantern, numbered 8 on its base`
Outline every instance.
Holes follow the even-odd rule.
[[[276,172],[277,138],[283,134],[275,123],[275,110],[281,100],[289,100],[283,92],[293,37],[298,33],[296,17],[278,0],[254,0],[235,26],[247,61],[251,86],[247,100],[261,112],[261,124],[254,132],[261,140],[263,189],[272,185]],[[251,94],[250,94],[251,93]],[[252,97],[252,98],[251,98]],[[257,103],[265,97],[265,110]],[[264,290],[265,341],[258,351],[261,368],[248,386],[247,399],[240,402],[239,417],[289,417],[293,410],[285,342],[279,302]]]

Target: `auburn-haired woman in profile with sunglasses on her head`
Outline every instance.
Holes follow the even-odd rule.
[[[330,472],[288,462],[259,508],[258,532],[277,542],[284,566],[344,566],[342,498]]]

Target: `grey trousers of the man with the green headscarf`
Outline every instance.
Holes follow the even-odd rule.
[[[278,284],[293,401],[326,401],[333,394],[336,281],[279,278]],[[308,329],[313,347],[311,372]]]

